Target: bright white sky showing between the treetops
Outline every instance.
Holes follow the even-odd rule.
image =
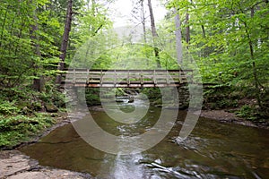
[[[126,25],[133,25],[131,21],[128,21],[131,16],[132,7],[132,0],[117,0],[114,4],[110,4],[111,13],[112,13],[112,20],[114,22],[114,27],[122,27]],[[147,1],[144,1],[144,9],[146,12],[149,12]],[[166,14],[165,7],[161,5],[159,0],[152,0],[152,9],[154,14],[154,19],[158,23],[163,19],[164,15]],[[146,16],[148,16],[147,14]],[[150,18],[147,19],[150,21]],[[134,24],[135,25],[135,24]],[[150,25],[150,24],[148,24]]]

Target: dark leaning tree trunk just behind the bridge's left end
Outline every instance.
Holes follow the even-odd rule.
[[[65,55],[66,55],[66,48],[69,40],[69,33],[71,30],[71,23],[72,23],[72,7],[73,7],[73,0],[68,1],[67,10],[66,10],[66,19],[65,19],[65,31],[63,35],[62,45],[61,45],[61,55],[60,62],[58,64],[57,70],[64,70],[65,68]],[[56,76],[56,84],[60,84],[62,81],[62,75],[58,74]]]

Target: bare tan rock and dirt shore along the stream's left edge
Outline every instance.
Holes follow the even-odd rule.
[[[36,136],[31,137],[29,141],[22,141],[13,147],[9,146],[0,150],[0,179],[92,178],[89,174],[40,166],[37,160],[22,154],[22,152],[18,150],[23,146],[39,141],[42,137],[45,137],[56,128],[70,123],[70,120],[67,119],[67,114],[61,113],[60,116],[56,117],[55,124],[43,130],[43,132],[39,132]]]

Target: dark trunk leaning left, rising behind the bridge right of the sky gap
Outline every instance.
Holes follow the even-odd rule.
[[[149,11],[150,11],[150,17],[151,17],[151,26],[152,26],[152,38],[153,38],[153,45],[154,45],[154,53],[156,57],[156,64],[157,68],[161,68],[161,62],[160,62],[160,56],[159,56],[159,48],[156,47],[156,38],[158,38],[155,21],[154,21],[154,15],[152,11],[152,0],[148,0],[149,5]]]

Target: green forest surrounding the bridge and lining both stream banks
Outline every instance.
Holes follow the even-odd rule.
[[[151,0],[132,0],[134,18],[126,27],[113,26],[115,2],[1,0],[0,148],[29,140],[65,114],[61,81],[69,66],[196,68],[209,84],[204,109],[268,122],[267,0],[160,0],[167,10],[161,21],[154,21]],[[95,90],[86,96],[99,105]]]

